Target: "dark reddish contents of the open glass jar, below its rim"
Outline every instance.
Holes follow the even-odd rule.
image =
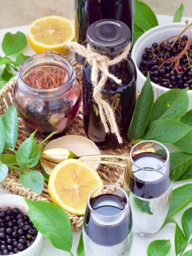
[[[52,94],[52,98],[46,98],[45,94],[43,98],[41,93],[34,98],[33,93],[24,94],[15,86],[14,103],[20,118],[29,129],[38,129],[37,132],[41,133],[53,131],[61,133],[73,122],[81,104],[79,83],[75,80],[69,90],[59,93],[58,96],[57,92],[49,91],[50,89],[60,90],[59,87],[67,83],[68,79],[69,72],[66,69],[55,65],[45,65],[29,71],[23,77],[23,81],[31,89],[45,90],[45,94]]]

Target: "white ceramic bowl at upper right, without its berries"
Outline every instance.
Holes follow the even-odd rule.
[[[181,22],[170,23],[167,25],[151,28],[146,33],[144,33],[141,37],[139,37],[138,41],[133,46],[133,50],[131,54],[131,57],[137,68],[137,75],[138,75],[137,89],[138,90],[141,90],[143,84],[146,81],[146,77],[139,70],[142,54],[145,52],[145,48],[151,47],[151,45],[155,42],[161,43],[166,38],[178,35],[185,27],[186,27],[185,23],[181,23]],[[189,36],[189,31],[187,30],[185,33],[183,33],[183,35]],[[170,90],[158,84],[155,84],[153,82],[151,84],[153,86],[155,99],[158,98],[159,95]],[[192,109],[192,90],[188,91],[187,93],[189,97],[189,109]]]

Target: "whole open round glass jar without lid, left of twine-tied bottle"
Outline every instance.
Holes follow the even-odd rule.
[[[75,78],[74,68],[65,57],[41,53],[20,66],[14,87],[14,103],[29,129],[61,133],[73,122],[81,99],[81,87]]]

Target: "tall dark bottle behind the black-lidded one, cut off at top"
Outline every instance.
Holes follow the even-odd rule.
[[[75,0],[76,41],[86,43],[86,32],[89,26],[101,19],[123,21],[131,30],[133,39],[135,0]],[[76,60],[83,63],[83,58],[76,55]]]

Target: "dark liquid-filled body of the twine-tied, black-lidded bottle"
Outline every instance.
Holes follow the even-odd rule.
[[[102,90],[102,98],[107,100],[115,110],[116,122],[124,141],[127,141],[127,131],[131,123],[136,102],[136,79],[137,73],[134,63],[130,58],[123,60],[109,68],[109,72],[119,79],[122,85],[117,85],[108,79]],[[115,148],[119,146],[116,135],[106,133],[99,115],[97,103],[93,100],[91,68],[85,64],[82,71],[83,80],[83,108],[84,108],[84,130],[92,141],[101,148]]]

